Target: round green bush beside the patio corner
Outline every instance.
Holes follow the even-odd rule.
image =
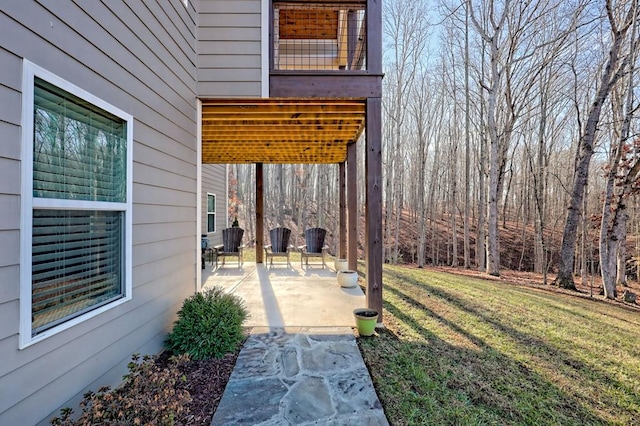
[[[192,359],[222,358],[244,340],[242,323],[247,310],[242,299],[213,287],[184,301],[166,346]]]

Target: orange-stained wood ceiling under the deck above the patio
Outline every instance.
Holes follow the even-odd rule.
[[[202,162],[340,163],[364,124],[359,99],[206,99]]]

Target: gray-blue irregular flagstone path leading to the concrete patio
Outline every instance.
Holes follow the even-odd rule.
[[[212,425],[388,425],[349,327],[254,329]]]

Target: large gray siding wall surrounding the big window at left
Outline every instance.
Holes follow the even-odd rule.
[[[86,390],[117,385],[132,353],[161,349],[175,313],[196,289],[194,6],[197,2],[188,8],[182,1],[2,3],[2,425],[46,423],[60,407],[76,406]],[[30,244],[20,240],[23,59],[134,117],[133,289],[126,303],[19,349],[19,247]]]

